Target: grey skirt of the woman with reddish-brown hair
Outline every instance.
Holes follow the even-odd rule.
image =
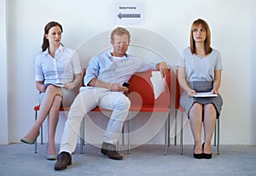
[[[194,89],[195,92],[209,92],[212,90],[212,82],[188,82],[189,87]],[[189,111],[195,103],[201,105],[212,104],[215,106],[217,112],[217,118],[220,115],[220,111],[223,105],[223,99],[220,94],[218,97],[188,97],[188,94],[184,91],[180,98],[180,105],[186,111],[187,116],[189,117]]]

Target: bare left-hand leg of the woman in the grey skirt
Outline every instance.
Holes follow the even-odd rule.
[[[195,154],[201,154],[201,123],[203,105],[195,103],[189,111],[190,128],[195,141]]]

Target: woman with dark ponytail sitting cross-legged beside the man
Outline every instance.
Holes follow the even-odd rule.
[[[34,144],[39,128],[48,116],[47,159],[55,160],[55,130],[59,120],[59,109],[69,107],[75,98],[74,88],[81,79],[79,55],[61,44],[62,26],[51,21],[44,27],[42,52],[35,60],[35,81],[39,94],[40,111],[38,119],[26,136],[20,139]]]

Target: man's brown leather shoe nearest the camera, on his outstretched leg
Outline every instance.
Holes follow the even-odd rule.
[[[68,165],[72,164],[72,158],[69,153],[62,151],[57,156],[57,162],[55,163],[55,170],[63,170],[67,168]]]

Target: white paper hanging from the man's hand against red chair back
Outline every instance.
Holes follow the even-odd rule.
[[[157,99],[165,91],[166,78],[162,78],[160,71],[152,71],[150,81],[154,88],[154,99]]]

